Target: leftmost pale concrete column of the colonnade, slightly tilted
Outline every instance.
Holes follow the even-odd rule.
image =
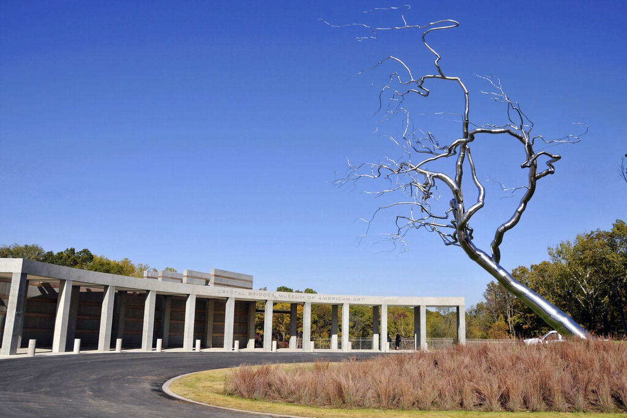
[[[26,273],[16,272],[11,276],[11,289],[9,301],[6,306],[6,318],[4,319],[4,335],[0,354],[13,355],[18,353],[18,340],[24,321],[24,304],[28,281]]]

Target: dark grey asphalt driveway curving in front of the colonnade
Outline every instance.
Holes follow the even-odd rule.
[[[338,361],[367,353],[107,353],[0,360],[3,417],[233,417],[164,394],[162,385],[184,373],[241,363]],[[240,414],[256,416],[254,414]]]

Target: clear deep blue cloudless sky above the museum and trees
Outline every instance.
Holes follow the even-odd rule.
[[[627,152],[626,3],[412,3],[411,23],[460,21],[431,39],[445,70],[467,81],[480,122],[502,120],[473,76],[493,73],[534,132],[591,126],[540,182],[505,238],[502,264],[539,262],[547,246],[627,218],[618,178]],[[253,274],[257,287],[476,303],[490,277],[460,249],[426,232],[413,233],[403,254],[379,252],[376,236],[357,247],[364,225],[354,220],[377,202],[329,185],[345,158],[382,155],[384,140],[371,135],[371,83],[393,68],[352,74],[389,54],[431,72],[418,33],[358,43],[353,31],[317,20],[360,21],[374,6],[387,4],[3,1],[0,244],[228,269]],[[416,104],[460,111],[453,90],[436,90]],[[439,129],[432,119],[420,126]],[[475,151],[480,177],[515,185],[519,149],[490,141]],[[497,187],[488,193],[494,205],[474,223],[480,245],[517,203],[499,199]],[[388,221],[376,230],[391,230]]]

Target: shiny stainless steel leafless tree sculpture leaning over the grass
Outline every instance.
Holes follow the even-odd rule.
[[[404,6],[408,8],[408,6]],[[377,10],[393,10],[403,8],[387,8]],[[379,31],[389,30],[423,30],[422,43],[435,56],[435,73],[415,77],[406,63],[396,56],[387,56],[379,61],[374,67],[384,63],[398,65],[399,72],[391,73],[389,81],[381,89],[380,103],[384,103],[383,97],[389,95],[387,105],[381,105],[384,112],[384,119],[389,119],[395,115],[401,115],[404,121],[404,131],[402,139],[389,137],[401,148],[401,157],[397,159],[385,158],[382,163],[364,163],[353,165],[349,163],[347,175],[336,180],[337,185],[344,185],[367,179],[379,179],[386,181],[386,188],[377,191],[377,195],[387,195],[398,193],[403,195],[401,200],[393,199],[393,203],[381,206],[374,213],[374,216],[381,210],[390,208],[406,207],[407,213],[396,216],[396,230],[391,234],[396,242],[404,242],[404,237],[408,230],[424,228],[430,232],[440,235],[445,245],[455,245],[461,247],[468,257],[483,267],[490,273],[508,292],[514,294],[522,300],[529,308],[539,314],[547,324],[561,333],[572,334],[580,338],[587,338],[587,331],[572,320],[566,313],[544,299],[529,287],[518,282],[512,274],[499,264],[501,259],[500,245],[503,242],[505,233],[514,228],[519,223],[522,214],[525,212],[529,201],[534,196],[537,182],[555,171],[554,163],[561,156],[546,151],[547,146],[556,144],[572,144],[580,141],[580,135],[568,135],[559,139],[545,140],[540,135],[531,133],[534,124],[527,118],[520,105],[510,99],[503,91],[502,85],[497,78],[483,77],[492,86],[493,91],[488,92],[493,99],[507,105],[507,121],[502,125],[475,125],[470,121],[470,97],[465,84],[459,77],[448,75],[440,65],[440,54],[434,50],[426,41],[427,35],[434,31],[456,28],[459,23],[455,20],[444,19],[423,26],[408,24],[404,14],[401,15],[403,24],[401,26],[375,27],[368,24],[353,23],[347,25],[325,23],[332,27],[357,26],[367,29],[368,36],[362,36],[357,40],[362,41],[369,38],[377,38]],[[372,69],[370,68],[370,69]],[[443,82],[453,82],[458,85],[463,93],[463,114],[461,114],[461,136],[456,137],[448,144],[441,144],[436,137],[427,132],[414,129],[413,122],[409,114],[406,100],[411,95],[428,97],[429,88],[425,86],[428,80],[441,80]],[[587,126],[584,126],[587,131]],[[585,134],[585,132],[584,132]],[[470,221],[473,215],[481,210],[485,204],[485,187],[477,176],[475,163],[473,162],[471,147],[475,139],[482,136],[503,136],[511,139],[520,146],[524,161],[520,168],[526,170],[527,184],[521,188],[523,191],[519,205],[514,213],[499,225],[494,233],[490,250],[478,248],[473,243],[473,229]],[[536,150],[536,144],[543,149]],[[431,169],[432,166],[442,165],[443,161],[451,160],[450,174],[445,171]],[[544,167],[539,167],[540,160],[544,161]],[[466,173],[465,169],[468,169]],[[470,176],[469,179],[465,178]],[[463,181],[465,180],[465,181]],[[470,186],[470,190],[468,186]],[[450,191],[451,199],[449,205],[436,211],[434,202],[441,196],[438,187]],[[447,191],[447,193],[448,193]],[[472,193],[471,193],[472,192]],[[471,194],[477,197],[469,197]],[[370,224],[369,224],[370,228]]]

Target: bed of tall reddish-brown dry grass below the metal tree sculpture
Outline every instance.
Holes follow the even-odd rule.
[[[243,366],[225,390],[335,408],[627,412],[627,344],[455,346],[313,367]]]

